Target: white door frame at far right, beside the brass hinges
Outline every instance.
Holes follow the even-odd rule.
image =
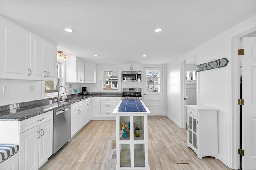
[[[240,98],[240,59],[238,57],[238,49],[240,49],[240,38],[256,31],[256,25],[231,35],[231,168],[240,168],[240,156],[237,154],[237,149],[240,147],[239,139],[239,114],[240,109],[237,105],[237,99]]]

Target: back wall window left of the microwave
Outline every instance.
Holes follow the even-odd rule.
[[[118,90],[119,70],[104,71],[102,70],[102,91]]]

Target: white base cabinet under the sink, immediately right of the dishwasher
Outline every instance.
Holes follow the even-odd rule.
[[[71,137],[85,125],[84,100],[71,104]]]

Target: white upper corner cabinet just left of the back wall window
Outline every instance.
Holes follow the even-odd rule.
[[[84,82],[85,83],[96,83],[96,64],[84,63]]]

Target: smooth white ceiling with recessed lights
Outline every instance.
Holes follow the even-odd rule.
[[[255,9],[256,0],[0,0],[1,15],[95,63],[168,63]]]

